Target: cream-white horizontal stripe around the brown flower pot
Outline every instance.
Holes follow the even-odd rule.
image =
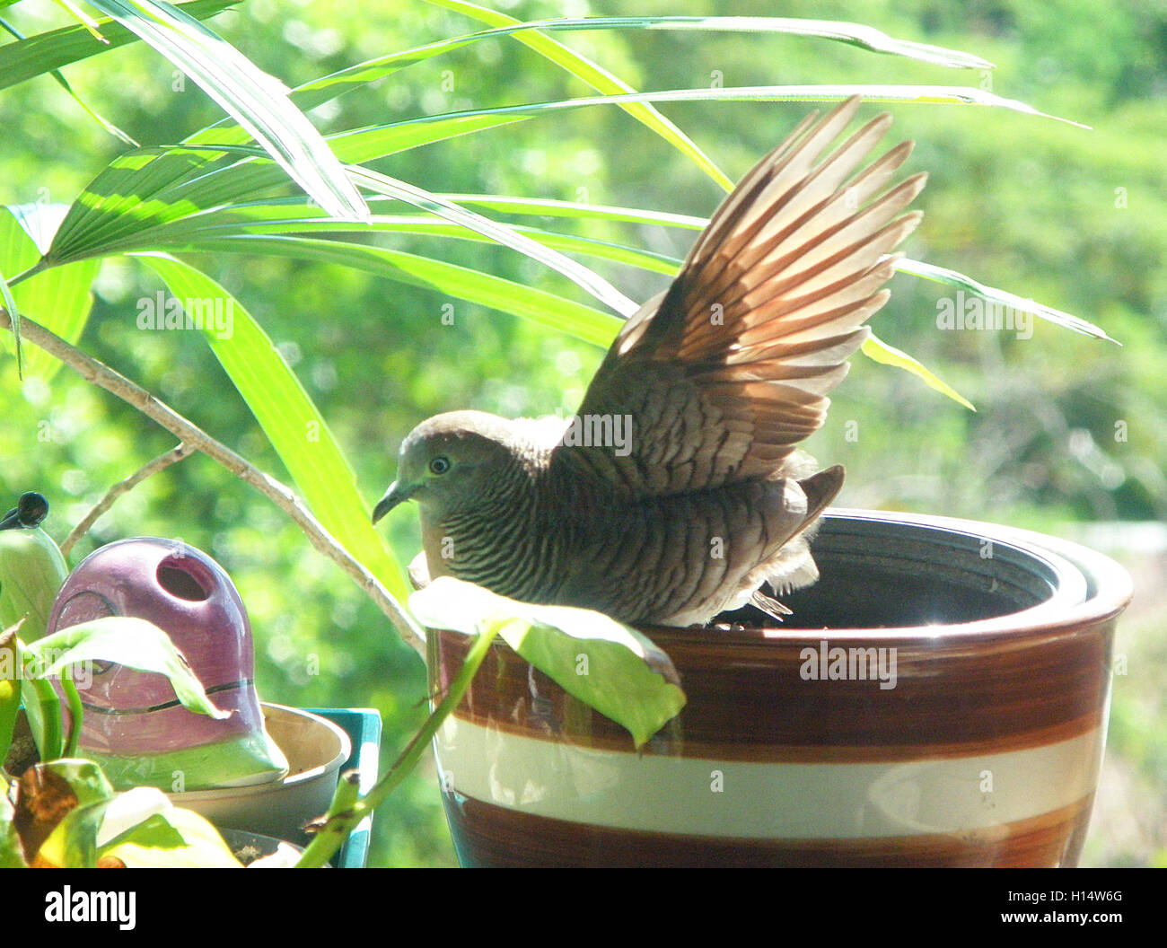
[[[993,754],[887,764],[753,764],[580,747],[449,718],[441,785],[511,810],[593,825],[756,838],[959,832],[1093,792],[1104,732]]]

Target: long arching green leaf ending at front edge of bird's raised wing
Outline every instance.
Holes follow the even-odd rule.
[[[397,283],[435,290],[443,295],[533,320],[557,332],[607,348],[622,321],[619,316],[544,290],[385,248],[310,237],[244,236],[204,241],[201,250],[272,253],[365,270]]]

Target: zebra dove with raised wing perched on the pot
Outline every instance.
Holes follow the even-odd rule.
[[[823,158],[858,106],[812,113],[746,175],[573,418],[455,411],[410,433],[372,518],[420,504],[415,580],[624,622],[789,613],[773,595],[818,578],[808,538],[843,485],[795,445],[823,425],[922,216],[901,211],[927,175],[889,183],[913,142],[854,174],[890,116]]]

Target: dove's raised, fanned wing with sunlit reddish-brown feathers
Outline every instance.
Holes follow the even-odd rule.
[[[901,211],[925,175],[890,183],[910,141],[857,173],[890,116],[824,158],[858,106],[809,116],[718,208],[672,286],[613,343],[553,467],[630,496],[703,490],[773,475],[822,426],[887,302],[889,255],[922,216]],[[613,430],[624,437],[595,437]]]

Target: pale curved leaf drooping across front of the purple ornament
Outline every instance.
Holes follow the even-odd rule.
[[[41,678],[57,675],[67,665],[98,661],[166,675],[175,696],[189,710],[216,720],[230,717],[229,711],[219,711],[211,704],[169,636],[145,619],[127,615],[93,619],[29,642],[26,654],[34,662],[32,674]]]

